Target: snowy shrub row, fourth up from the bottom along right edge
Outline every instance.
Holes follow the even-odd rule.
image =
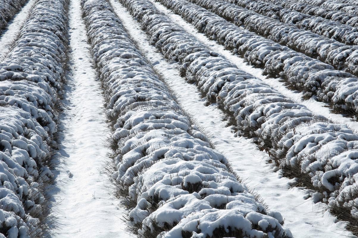
[[[313,33],[335,39],[345,44],[358,45],[358,29],[344,25],[320,16],[311,16],[295,10],[289,10],[277,6],[280,2],[274,0],[227,0],[257,13],[274,17],[283,23],[295,24],[298,28],[310,30]],[[290,2],[291,3],[291,2]],[[284,3],[282,3],[284,5]]]

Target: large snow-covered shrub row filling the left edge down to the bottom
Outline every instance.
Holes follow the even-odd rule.
[[[0,237],[46,233],[66,5],[66,0],[39,0],[0,63]]]

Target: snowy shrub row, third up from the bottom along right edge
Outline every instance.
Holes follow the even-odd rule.
[[[339,43],[224,0],[192,0],[192,2],[232,21],[237,26],[244,26],[262,37],[319,59],[336,69],[358,75],[358,46]],[[326,67],[326,69],[328,68]]]

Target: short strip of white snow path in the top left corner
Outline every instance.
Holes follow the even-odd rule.
[[[0,62],[3,61],[5,56],[9,53],[14,40],[18,38],[18,32],[24,25],[35,3],[36,0],[29,0],[14,18],[8,22],[8,25],[0,34]]]

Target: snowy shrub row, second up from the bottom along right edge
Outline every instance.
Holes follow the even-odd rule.
[[[239,16],[245,18],[245,14],[229,8],[224,1],[208,0],[198,3],[212,8],[213,11],[223,12],[225,16],[237,22],[240,21]],[[241,54],[250,64],[264,68],[265,74],[283,78],[292,88],[305,92],[307,97],[315,95],[319,101],[328,102],[335,112],[357,115],[358,101],[355,92],[358,89],[358,79],[352,74],[334,70],[331,65],[243,30],[188,1],[183,0],[173,6],[165,2],[165,5],[191,21],[208,37],[216,39],[234,53]],[[256,21],[255,18],[253,21]],[[340,56],[343,55],[344,53]],[[337,57],[337,61],[339,58]]]

